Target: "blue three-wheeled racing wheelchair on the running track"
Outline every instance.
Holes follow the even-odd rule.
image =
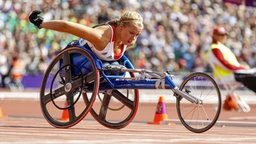
[[[139,89],[170,89],[181,123],[195,133],[209,130],[222,105],[215,80],[195,72],[177,86],[173,78],[168,71],[135,69],[126,56],[106,64],[89,47],[70,44],[45,71],[40,88],[42,113],[56,128],[72,127],[90,112],[101,125],[121,129],[136,115]],[[67,120],[59,118],[63,111]]]

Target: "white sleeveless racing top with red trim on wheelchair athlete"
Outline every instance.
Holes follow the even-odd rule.
[[[121,52],[119,54],[114,53],[114,41],[115,41],[115,28],[114,26],[108,25],[111,28],[112,35],[111,35],[111,40],[109,43],[106,45],[106,47],[99,51],[95,48],[95,46],[90,43],[89,41],[85,39],[79,39],[79,45],[84,46],[88,45],[90,49],[93,51],[93,53],[101,60],[105,61],[115,61],[120,59],[126,50],[127,45],[122,45]]]

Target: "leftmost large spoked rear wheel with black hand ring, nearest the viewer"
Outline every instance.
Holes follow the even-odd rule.
[[[74,55],[91,65],[83,74],[74,64]],[[76,71],[76,73],[74,72]],[[63,49],[45,71],[40,89],[40,104],[45,119],[56,128],[79,123],[91,110],[99,90],[99,70],[92,56],[78,47]],[[87,93],[87,102],[81,98]]]

